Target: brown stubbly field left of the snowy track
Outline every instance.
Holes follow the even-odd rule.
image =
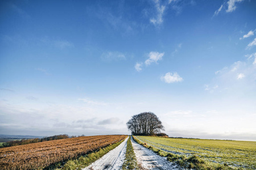
[[[98,135],[0,148],[1,169],[42,169],[77,158],[125,139],[127,135]]]

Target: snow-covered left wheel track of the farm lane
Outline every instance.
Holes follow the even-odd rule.
[[[82,170],[122,169],[123,161],[125,160],[127,140],[128,137],[119,146]]]

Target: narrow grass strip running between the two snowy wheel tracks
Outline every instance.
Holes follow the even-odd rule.
[[[125,162],[122,165],[122,169],[138,169],[137,159],[133,150],[133,145],[131,145],[131,136],[127,141]]]

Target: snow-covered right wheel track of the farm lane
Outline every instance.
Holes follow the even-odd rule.
[[[139,145],[131,138],[131,143],[141,169],[178,169],[175,164],[169,162],[166,157],[156,155],[148,148]]]

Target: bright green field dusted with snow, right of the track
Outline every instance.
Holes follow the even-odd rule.
[[[137,136],[139,140],[177,155],[197,155],[209,163],[256,169],[256,142]]]

